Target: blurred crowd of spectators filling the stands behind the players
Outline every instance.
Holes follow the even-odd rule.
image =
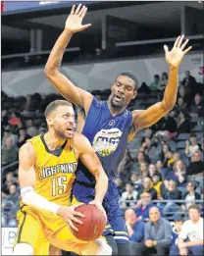
[[[129,110],[145,109],[161,100],[167,82],[168,75],[165,73],[161,78],[155,75],[150,84],[142,82],[138,97],[131,102]],[[98,99],[106,100],[110,90],[95,90],[92,93]],[[120,192],[129,237],[135,242],[132,247],[134,255],[136,251],[145,251],[147,255],[147,248],[156,248],[156,244],[149,240],[157,240],[159,236],[155,239],[148,236],[149,246],[141,243],[143,247],[138,248],[136,244],[144,241],[144,230],[151,230],[149,225],[154,223],[154,218],[161,219],[161,224],[171,229],[169,221],[175,221],[174,229],[178,233],[190,207],[199,216],[203,214],[202,94],[203,84],[197,83],[187,71],[178,87],[175,108],[153,127],[138,132],[129,143],[119,166],[115,182]],[[38,93],[26,97],[10,97],[2,92],[2,227],[17,226],[16,213],[20,199],[18,150],[26,139],[46,132],[44,109],[51,101],[60,98],[57,94],[45,96]],[[200,201],[194,205],[197,200]],[[177,222],[180,226],[177,226]],[[141,235],[138,237],[137,234]],[[185,237],[184,231],[182,237]],[[169,246],[172,243],[171,238],[167,244]],[[175,248],[173,251],[177,249],[181,250]],[[158,250],[158,255],[168,255],[165,246],[160,246]]]

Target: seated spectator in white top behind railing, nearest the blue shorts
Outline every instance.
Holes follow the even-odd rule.
[[[135,201],[137,197],[137,191],[133,190],[134,185],[132,182],[126,184],[126,191],[123,192],[121,197],[122,208],[133,207],[134,202],[126,202],[127,200]]]

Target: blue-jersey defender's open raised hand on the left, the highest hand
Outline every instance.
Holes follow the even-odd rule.
[[[74,5],[71,11],[70,16],[68,17],[65,25],[65,29],[68,29],[69,31],[76,33],[78,31],[82,31],[86,29],[87,27],[91,26],[91,24],[81,25],[82,20],[87,12],[87,7],[84,5],[81,7],[81,4],[77,6]]]

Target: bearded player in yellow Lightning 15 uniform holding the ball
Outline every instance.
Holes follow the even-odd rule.
[[[70,102],[51,102],[45,117],[48,132],[27,140],[19,153],[22,202],[14,254],[49,255],[51,243],[80,255],[111,255],[112,249],[104,240],[83,242],[71,230],[77,230],[74,222],[82,225],[77,217],[84,217],[75,211],[78,204],[71,203],[77,161],[80,159],[95,177],[92,203],[103,209],[108,178],[101,163],[87,138],[75,133],[75,112]]]

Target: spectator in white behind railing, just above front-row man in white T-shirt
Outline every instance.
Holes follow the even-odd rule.
[[[187,210],[190,205],[194,204],[195,200],[200,200],[200,194],[195,192],[195,186],[195,182],[193,181],[189,181],[186,184],[186,192],[182,196],[182,200],[185,200],[186,202],[185,205],[181,206],[183,211]]]

